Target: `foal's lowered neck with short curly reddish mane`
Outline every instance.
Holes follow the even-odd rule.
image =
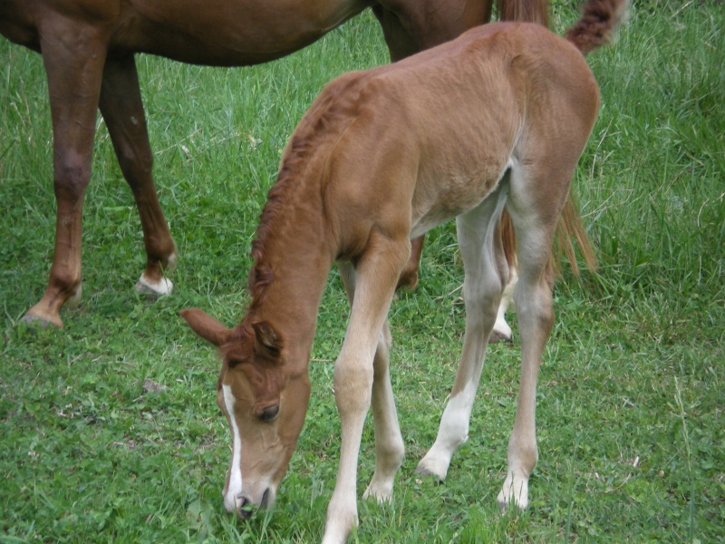
[[[327,275],[339,252],[324,188],[330,153],[351,118],[346,102],[328,98],[323,93],[314,102],[287,142],[252,243],[250,314],[275,325],[285,345],[304,351],[304,364]]]

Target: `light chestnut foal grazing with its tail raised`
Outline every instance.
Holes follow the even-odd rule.
[[[227,329],[202,310],[182,312],[222,355],[217,402],[233,437],[227,510],[247,516],[275,501],[303,427],[317,310],[335,261],[352,308],[334,365],[342,445],[324,542],[343,542],[357,522],[357,461],[371,404],[375,470],[364,496],[391,499],[403,442],[387,313],[411,239],[456,217],[466,332],[438,438],[418,465],[446,477],[468,438],[509,273],[498,228],[504,206],[519,248],[522,374],[498,502],[527,506],[536,376],[554,322],[551,246],[599,105],[582,53],[607,42],[626,1],[588,0],[568,40],[537,24],[486,24],[324,88],[288,142],[262,212],[247,315]]]

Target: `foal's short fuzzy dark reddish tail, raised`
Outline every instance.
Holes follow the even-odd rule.
[[[584,54],[609,44],[628,8],[629,0],[589,0],[582,6],[582,17],[566,31],[566,39]]]

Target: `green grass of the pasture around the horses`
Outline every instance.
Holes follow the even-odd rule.
[[[575,9],[558,3],[561,30]],[[420,287],[391,309],[391,379],[407,455],[393,503],[360,501],[360,542],[716,542],[725,538],[725,7],[635,3],[590,63],[603,103],[575,176],[601,267],[565,268],[538,388],[527,512],[498,514],[517,347],[489,349],[471,438],[443,485],[432,443],[463,332],[454,229],[427,241]],[[0,542],[310,542],[336,472],[333,360],[347,307],[335,273],[318,318],[313,396],[272,513],[223,510],[228,430],[218,362],[179,309],[232,324],[249,243],[286,138],[338,73],[386,62],[372,15],[241,70],[141,56],[155,175],[179,247],[175,293],[137,296],[140,225],[99,121],[83,231],[84,300],[62,331],[18,320],[53,247],[51,127],[40,58],[0,42]],[[161,390],[145,387],[147,380]],[[372,475],[372,425],[359,488]],[[361,491],[362,492],[362,491]]]

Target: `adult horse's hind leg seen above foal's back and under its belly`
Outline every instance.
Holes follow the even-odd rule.
[[[440,0],[382,0],[372,11],[382,26],[394,63],[488,23],[492,5],[493,0],[457,0],[441,8]],[[411,242],[411,258],[401,272],[399,288],[418,285],[423,239],[421,236]]]

